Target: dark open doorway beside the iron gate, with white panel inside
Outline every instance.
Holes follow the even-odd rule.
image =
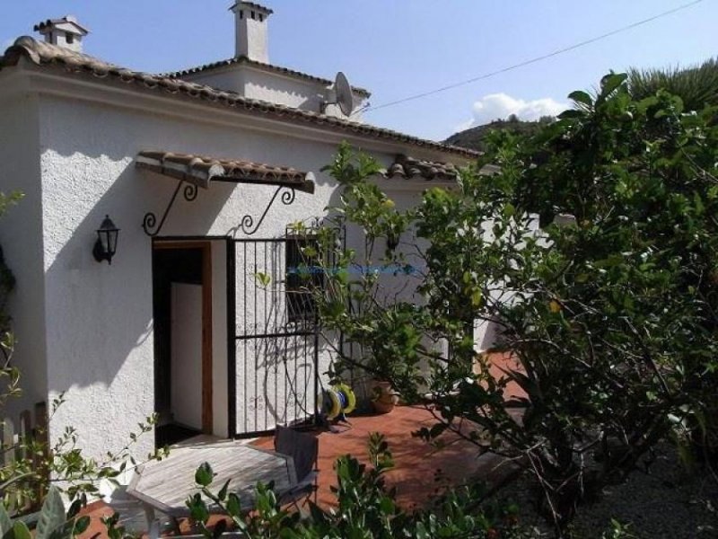
[[[210,242],[153,243],[155,446],[212,434]]]

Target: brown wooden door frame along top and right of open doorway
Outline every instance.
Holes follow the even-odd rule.
[[[212,242],[210,240],[153,241],[153,250],[200,249],[202,251],[202,432],[213,434],[213,355],[212,355]]]

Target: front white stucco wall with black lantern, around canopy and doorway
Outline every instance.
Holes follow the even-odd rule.
[[[137,152],[231,156],[314,172],[314,195],[297,192],[292,206],[277,200],[270,209],[257,235],[276,237],[288,223],[323,214],[335,185],[320,168],[336,146],[251,132],[239,122],[200,124],[55,97],[41,98],[39,118],[48,340],[53,343],[48,385],[50,397],[66,392],[67,398],[51,434],[57,437],[72,424],[88,454],[102,455],[124,445],[128,432],[153,411],[151,241],[141,223],[147,211],[162,214],[177,181],[136,170]],[[258,217],[273,193],[265,186],[216,183],[200,190],[192,203],[180,196],[162,235],[237,234],[241,216]],[[121,229],[111,266],[97,263],[91,253],[105,214]],[[215,393],[215,398],[223,396]],[[215,424],[219,420],[215,412]],[[152,437],[144,437],[137,454],[152,445]]]

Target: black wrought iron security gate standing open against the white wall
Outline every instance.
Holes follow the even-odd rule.
[[[320,285],[323,278],[305,256],[312,241],[304,232],[228,244],[227,278],[234,285],[228,294],[232,436],[316,414],[320,357],[328,350],[308,286],[308,280]]]

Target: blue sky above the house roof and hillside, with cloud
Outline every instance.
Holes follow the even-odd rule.
[[[352,84],[386,102],[562,49],[688,0],[266,0],[272,63]],[[164,72],[232,57],[230,0],[24,0],[4,5],[0,44],[40,20],[76,15],[85,52]],[[472,122],[560,110],[610,69],[691,65],[718,53],[718,0],[585,48],[366,115],[372,124],[443,139]]]

